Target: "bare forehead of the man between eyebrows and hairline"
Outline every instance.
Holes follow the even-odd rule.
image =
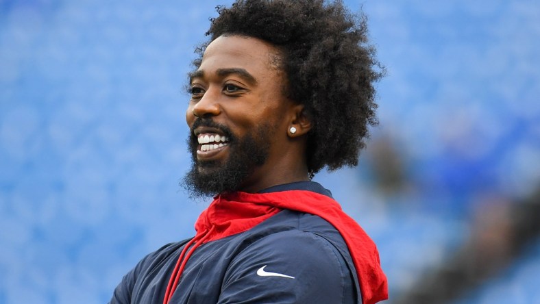
[[[222,68],[243,68],[258,78],[279,71],[279,60],[278,49],[268,42],[244,36],[219,36],[206,47],[198,71],[214,73]]]

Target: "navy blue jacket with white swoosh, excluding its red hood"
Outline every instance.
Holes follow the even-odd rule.
[[[313,182],[263,192],[310,190]],[[163,303],[188,240],[167,244],[123,277],[110,301]],[[243,233],[201,244],[188,259],[171,303],[360,303],[356,270],[339,232],[319,216],[283,210]]]

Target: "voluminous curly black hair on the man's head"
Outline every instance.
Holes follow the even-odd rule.
[[[384,74],[368,45],[364,14],[351,14],[341,1],[237,0],[217,6],[204,49],[222,35],[270,42],[282,53],[284,95],[302,103],[312,123],[306,159],[310,173],[328,166],[356,166],[376,118],[373,86]]]

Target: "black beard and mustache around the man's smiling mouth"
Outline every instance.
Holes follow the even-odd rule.
[[[188,150],[191,152],[191,170],[183,179],[183,186],[188,190],[191,198],[211,197],[225,191],[236,191],[243,181],[253,173],[257,166],[265,164],[273,134],[269,124],[258,125],[256,129],[243,138],[236,138],[228,127],[214,123],[208,118],[197,118],[193,129],[198,126],[214,127],[219,129],[230,140],[228,144],[229,158],[225,163],[216,161],[197,161],[197,136],[190,132],[188,137]],[[201,173],[199,168],[209,169]]]

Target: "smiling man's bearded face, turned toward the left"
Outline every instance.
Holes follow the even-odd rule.
[[[266,188],[286,144],[284,73],[279,52],[256,38],[221,36],[191,75],[186,111],[193,167],[186,183],[195,194]]]

